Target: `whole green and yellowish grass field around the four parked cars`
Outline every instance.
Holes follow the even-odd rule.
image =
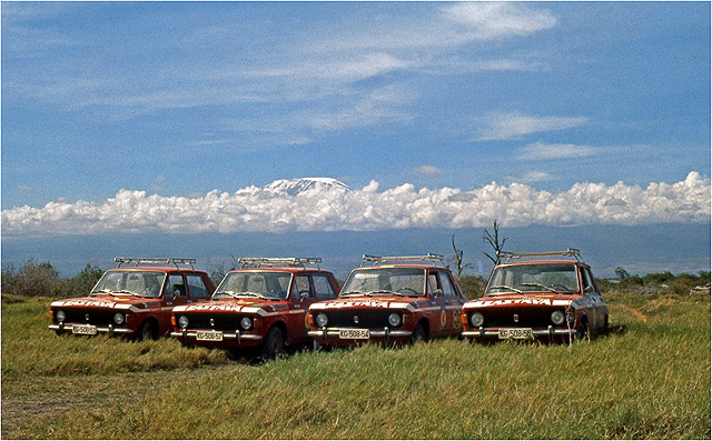
[[[57,337],[2,305],[2,437],[710,439],[710,295],[609,295],[568,345],[435,341],[265,364],[172,340]]]

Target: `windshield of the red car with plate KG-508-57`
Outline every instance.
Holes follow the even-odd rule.
[[[291,273],[284,271],[229,272],[215,290],[212,298],[286,299],[290,281]]]

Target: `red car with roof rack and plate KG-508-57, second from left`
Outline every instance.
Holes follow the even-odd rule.
[[[334,274],[318,267],[322,259],[240,258],[238,262],[243,268],[225,275],[210,302],[174,309],[171,337],[188,345],[259,348],[263,359],[279,355],[285,347],[312,344],[307,309],[338,292]]]

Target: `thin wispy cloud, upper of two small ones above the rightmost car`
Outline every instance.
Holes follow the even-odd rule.
[[[477,122],[481,126],[479,141],[521,139],[526,134],[565,130],[583,126],[583,117],[533,117],[520,112],[490,112]]]

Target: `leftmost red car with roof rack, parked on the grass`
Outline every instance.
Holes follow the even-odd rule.
[[[58,334],[156,339],[170,332],[175,305],[206,301],[215,291],[208,274],[192,267],[195,259],[116,258],[115,262],[118,267],[105,272],[88,297],[52,302],[50,329]]]

